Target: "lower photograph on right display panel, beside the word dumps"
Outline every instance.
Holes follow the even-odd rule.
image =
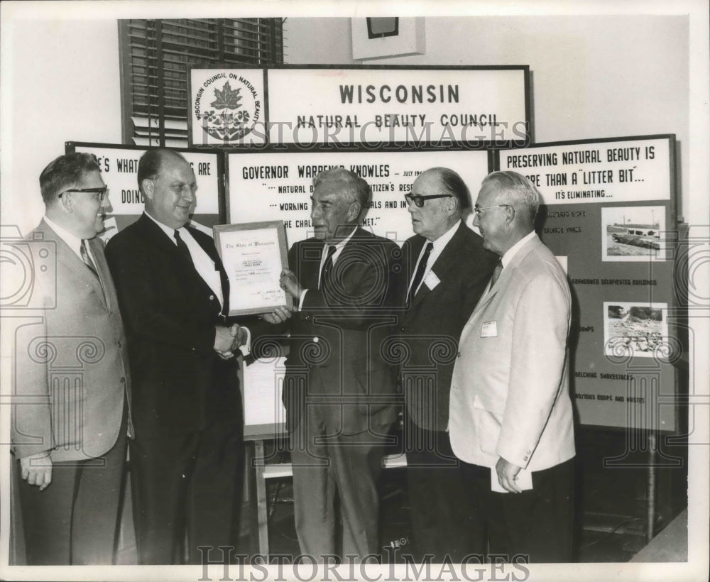
[[[604,302],[604,353],[660,357],[667,351],[667,314],[667,303]]]

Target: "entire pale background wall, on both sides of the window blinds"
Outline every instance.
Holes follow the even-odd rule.
[[[687,17],[471,16],[425,22],[425,55],[369,62],[530,65],[536,141],[676,133],[682,193],[688,192]],[[118,33],[109,18],[16,20],[3,33],[10,90],[4,93],[2,121],[11,147],[4,151],[2,222],[19,224],[24,232],[43,212],[39,172],[63,152],[65,141],[121,141]],[[354,63],[349,18],[287,18],[285,47],[290,64]]]

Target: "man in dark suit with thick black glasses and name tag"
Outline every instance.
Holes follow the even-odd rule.
[[[466,319],[491,278],[497,257],[461,219],[469,190],[449,168],[431,168],[405,196],[416,235],[405,241],[408,268],[400,340],[410,357],[400,378],[406,402],[405,449],[410,521],[420,559],[454,563],[482,551],[469,527],[466,493],[449,444],[449,383]]]

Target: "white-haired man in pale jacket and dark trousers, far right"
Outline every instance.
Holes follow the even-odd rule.
[[[557,562],[572,556],[571,298],[533,230],[539,203],[516,172],[481,185],[474,225],[502,270],[461,333],[449,431],[471,495],[484,502],[491,554]]]

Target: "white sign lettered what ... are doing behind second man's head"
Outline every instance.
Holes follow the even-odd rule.
[[[93,153],[99,160],[101,175],[109,187],[111,209],[104,220],[106,230],[99,235],[104,241],[138,219],[143,214],[143,194],[138,190],[138,160],[146,148],[118,146],[107,143],[67,141],[65,150]],[[191,226],[212,236],[212,226],[224,223],[222,194],[222,155],[217,151],[178,149],[192,166],[197,179],[197,204]]]

